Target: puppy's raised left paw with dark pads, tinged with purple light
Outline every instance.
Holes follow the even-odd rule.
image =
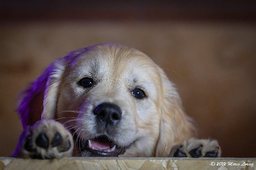
[[[19,138],[14,157],[53,159],[70,157],[73,152],[71,133],[55,120],[39,120],[27,127]]]

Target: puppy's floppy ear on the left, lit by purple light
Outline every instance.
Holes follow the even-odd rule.
[[[59,86],[66,66],[89,48],[81,48],[55,60],[22,94],[17,112],[25,128],[40,119],[54,118]]]

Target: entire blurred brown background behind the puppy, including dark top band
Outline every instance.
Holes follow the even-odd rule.
[[[0,156],[22,131],[17,95],[58,57],[120,42],[178,88],[198,137],[256,157],[255,1],[0,1]]]

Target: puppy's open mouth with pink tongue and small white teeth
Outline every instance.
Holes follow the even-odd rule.
[[[81,156],[118,157],[124,154],[132,145],[131,143],[125,147],[120,147],[105,135],[85,141],[76,134],[73,137],[74,141],[76,141],[77,148],[81,152]]]

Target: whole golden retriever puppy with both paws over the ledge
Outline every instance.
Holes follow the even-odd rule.
[[[164,71],[134,48],[105,43],[53,62],[19,103],[14,157],[219,157]]]

